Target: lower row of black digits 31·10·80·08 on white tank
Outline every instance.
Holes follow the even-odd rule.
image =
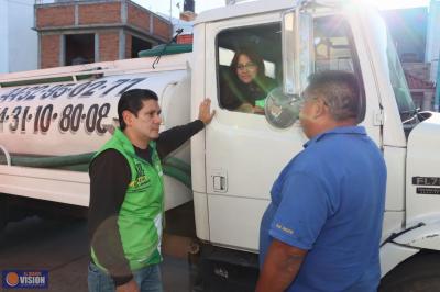
[[[54,111],[53,104],[31,106],[0,108],[0,133],[47,133],[57,125],[62,133],[76,133],[81,127],[85,132],[102,135],[107,132],[103,120],[110,112],[110,103],[92,104],[88,109],[82,103],[67,104],[61,112]]]

